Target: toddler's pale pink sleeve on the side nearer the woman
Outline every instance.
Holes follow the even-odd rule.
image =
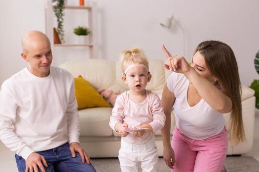
[[[153,132],[160,130],[165,125],[165,114],[162,107],[161,100],[157,94],[151,94],[151,112],[153,115],[153,121],[149,124],[151,125]]]

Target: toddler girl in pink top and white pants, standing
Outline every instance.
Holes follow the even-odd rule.
[[[157,172],[154,133],[164,126],[165,114],[158,95],[145,89],[151,79],[147,57],[142,49],[134,48],[123,51],[120,62],[122,81],[129,90],[117,97],[110,126],[121,136],[121,171],[138,172],[140,164],[143,172]]]

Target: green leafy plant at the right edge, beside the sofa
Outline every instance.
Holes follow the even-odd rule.
[[[254,64],[255,64],[256,71],[259,74],[259,51],[256,54]],[[253,83],[251,84],[250,88],[255,90],[256,108],[259,109],[259,80],[254,80]]]

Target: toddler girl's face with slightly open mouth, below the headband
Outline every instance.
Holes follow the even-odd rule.
[[[132,91],[141,92],[146,88],[150,78],[151,75],[148,74],[145,67],[135,66],[127,71],[126,78],[124,77],[122,80]]]

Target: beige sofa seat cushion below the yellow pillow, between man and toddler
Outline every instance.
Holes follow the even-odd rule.
[[[110,107],[79,110],[80,136],[112,136],[109,125],[111,110]]]

